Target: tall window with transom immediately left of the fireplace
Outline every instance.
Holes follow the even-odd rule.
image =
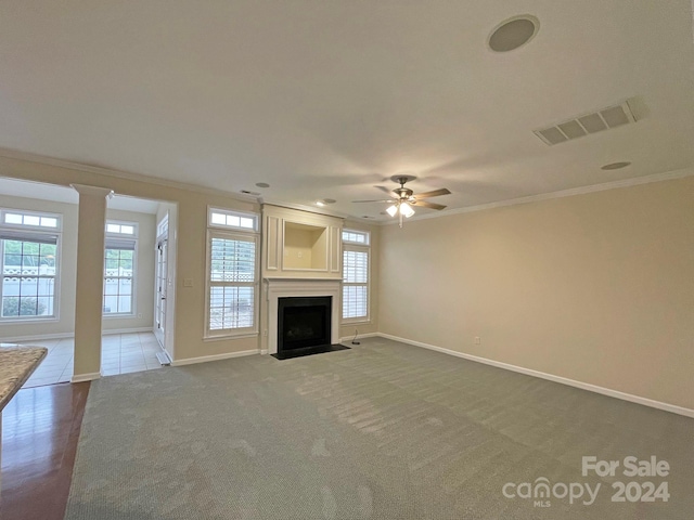
[[[205,336],[255,334],[258,247],[254,231],[257,217],[217,209],[210,210],[209,216]],[[223,223],[221,217],[216,216],[222,216]],[[240,229],[247,231],[231,231]]]

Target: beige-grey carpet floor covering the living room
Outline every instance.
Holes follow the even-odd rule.
[[[582,456],[656,456],[671,470],[583,477]],[[667,482],[669,499],[614,503],[616,481],[637,482],[630,498],[647,481]],[[516,496],[504,496],[509,483]],[[517,496],[540,483],[554,493]],[[562,497],[557,484],[583,495]],[[584,504],[586,485],[599,484]],[[681,520],[692,511],[694,419],[371,338],[295,360],[255,355],[94,381],[65,518]]]

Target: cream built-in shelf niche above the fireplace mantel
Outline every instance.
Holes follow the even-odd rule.
[[[264,277],[342,278],[337,217],[265,205]]]

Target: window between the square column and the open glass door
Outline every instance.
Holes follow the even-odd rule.
[[[103,313],[134,314],[137,223],[106,222]]]

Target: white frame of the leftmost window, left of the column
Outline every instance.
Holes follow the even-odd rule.
[[[49,218],[55,219],[55,226],[47,226],[47,225],[33,225],[25,223],[5,223],[5,214],[22,214],[23,219],[26,216],[29,217],[38,217],[38,218]],[[55,213],[51,211],[36,211],[29,209],[18,209],[18,208],[9,208],[2,207],[0,208],[0,231],[7,231],[9,234],[16,235],[16,238],[0,238],[0,309],[2,308],[2,298],[4,296],[4,248],[5,242],[16,240],[16,242],[34,242],[31,238],[36,237],[38,243],[46,243],[47,237],[55,238],[55,256],[53,259],[54,262],[54,273],[53,275],[40,275],[37,273],[37,278],[43,280],[52,280],[53,281],[53,294],[52,294],[52,309],[53,312],[51,314],[46,315],[13,315],[13,316],[3,316],[0,312],[0,323],[4,324],[20,324],[20,323],[31,323],[31,322],[57,322],[60,321],[60,301],[61,301],[61,271],[62,271],[62,246],[63,246],[63,214]],[[35,243],[36,243],[35,242]],[[50,243],[49,243],[50,244]],[[21,277],[21,276],[20,276]],[[21,296],[18,304],[22,306]],[[37,296],[38,298],[38,296]]]

